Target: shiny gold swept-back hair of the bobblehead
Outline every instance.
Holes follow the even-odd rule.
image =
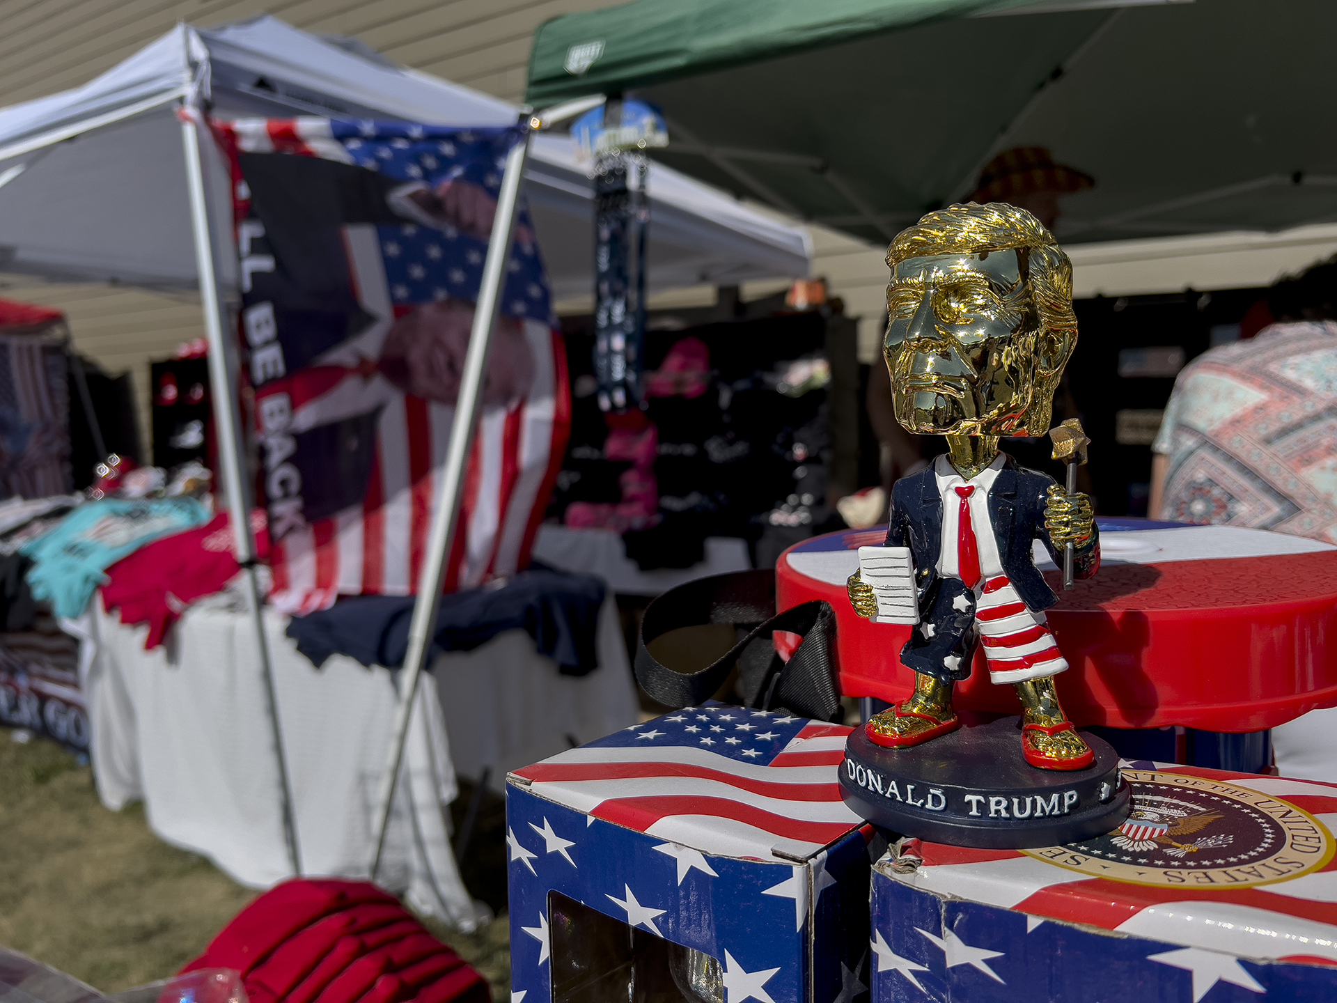
[[[896,266],[909,258],[1001,250],[1017,251],[1021,282],[1029,285],[1040,318],[1042,330],[1021,346],[1021,353],[1029,354],[1035,364],[1025,429],[1031,436],[1043,436],[1050,429],[1059,377],[1078,341],[1072,262],[1054,234],[1024,209],[1005,202],[957,203],[929,213],[901,230],[886,250],[886,263],[894,284]]]

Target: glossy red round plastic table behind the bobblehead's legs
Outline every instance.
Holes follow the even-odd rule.
[[[1048,611],[1071,666],[1058,678],[1079,725],[1261,732],[1337,705],[1337,547],[1223,526],[1099,520],[1102,567],[1063,590]],[[842,691],[904,699],[900,663],[910,627],[854,615],[845,579],[857,548],[885,528],[828,534],[786,550],[775,567],[778,608],[825,599],[836,608]],[[976,651],[957,706],[1015,714],[1011,686],[995,686]]]

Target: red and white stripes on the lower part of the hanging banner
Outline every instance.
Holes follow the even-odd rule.
[[[475,588],[528,563],[570,425],[560,336],[525,322],[536,374],[528,397],[484,409],[469,453],[447,591]],[[286,534],[270,558],[279,610],[302,615],[338,595],[410,595],[440,499],[455,408],[402,397],[381,412],[361,506]]]

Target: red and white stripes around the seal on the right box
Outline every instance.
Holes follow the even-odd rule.
[[[1308,812],[1329,832],[1337,825],[1333,784],[1194,766],[1157,769],[1247,788]],[[1245,958],[1337,966],[1337,860],[1290,880],[1230,889],[1191,876],[1182,884],[1092,877],[1011,849],[921,843],[915,855],[923,865],[897,880],[936,895]]]

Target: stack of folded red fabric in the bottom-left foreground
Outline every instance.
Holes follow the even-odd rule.
[[[294,879],[182,968],[235,968],[251,1003],[488,1003],[487,980],[366,881]]]

